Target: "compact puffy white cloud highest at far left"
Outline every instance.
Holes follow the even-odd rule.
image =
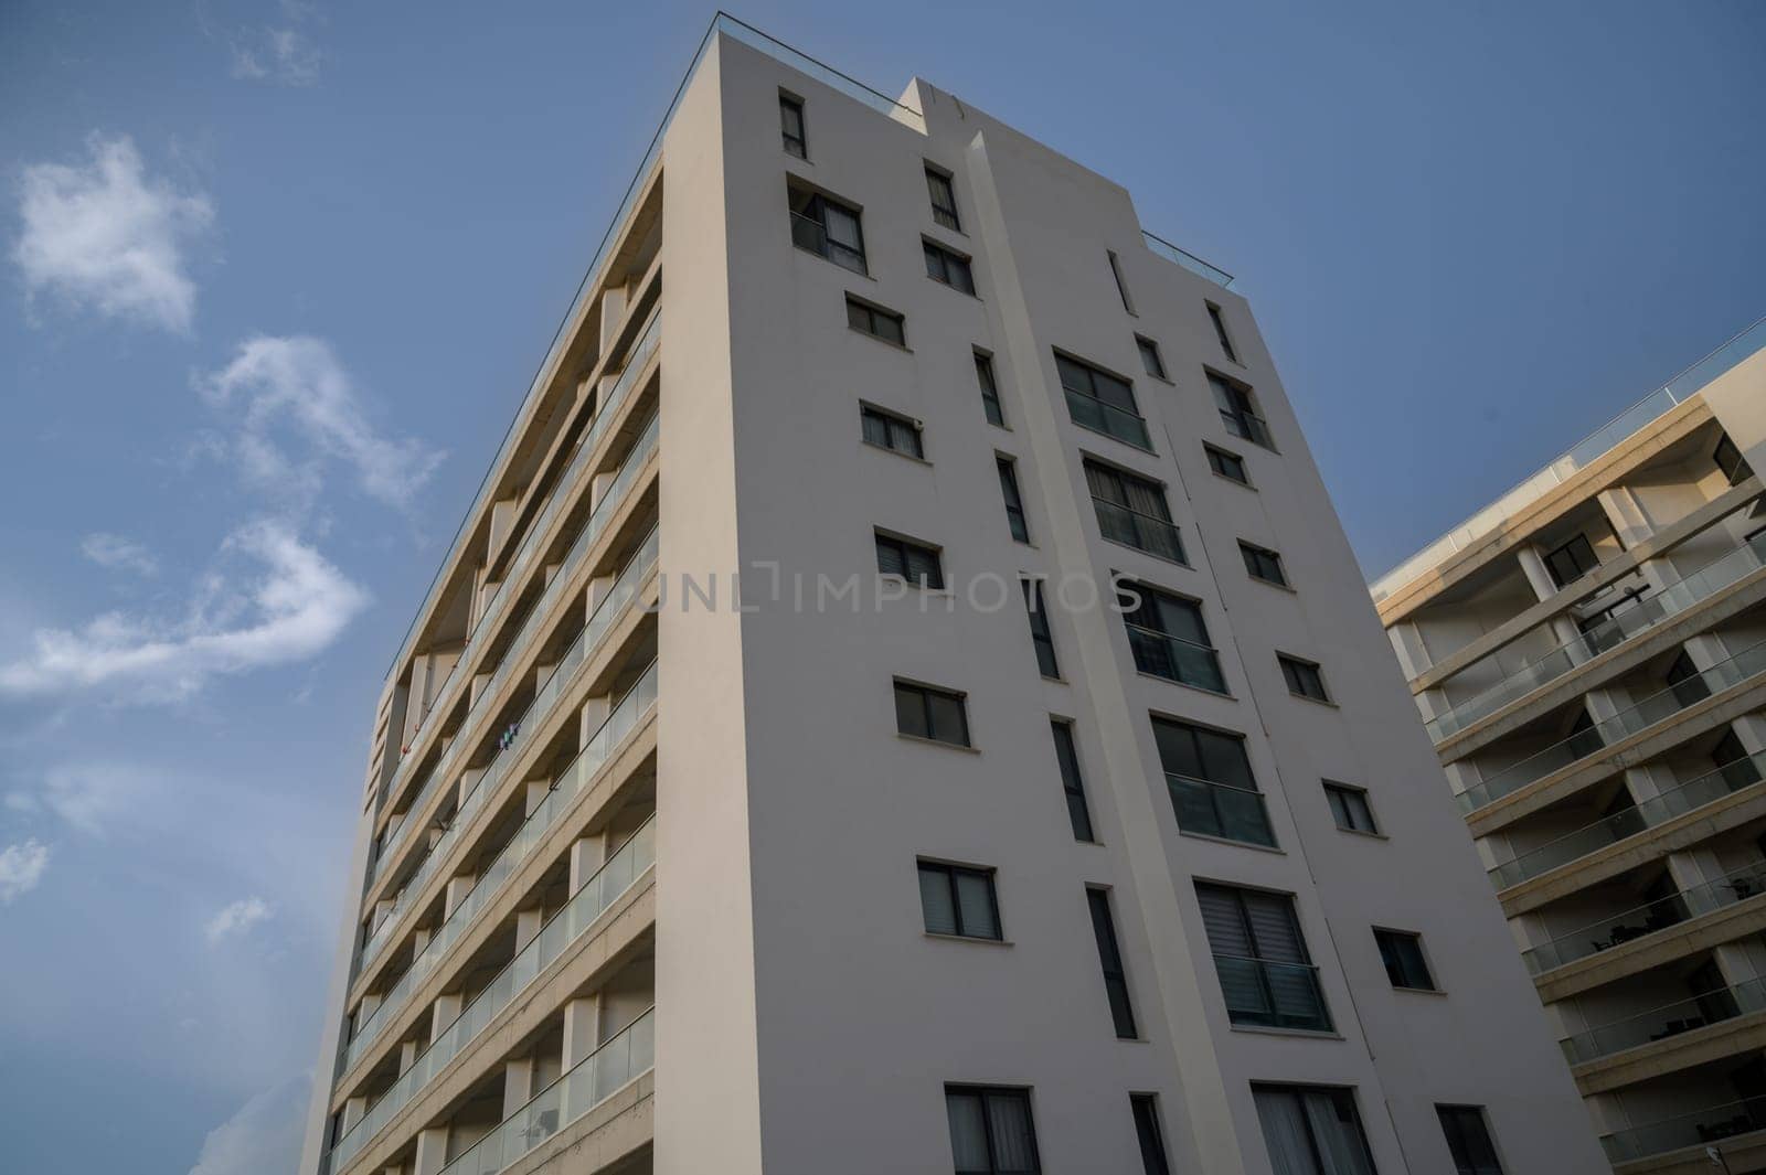
[[[129,136],[87,141],[85,166],[32,164],[19,185],[25,231],[12,259],[30,296],[189,333],[196,282],[184,245],[214,222],[201,192],[147,175]]]

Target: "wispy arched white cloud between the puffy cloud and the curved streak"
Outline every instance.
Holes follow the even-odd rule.
[[[253,482],[298,501],[316,496],[320,471],[316,460],[297,460],[277,443],[283,420],[318,453],[353,466],[362,490],[392,506],[410,505],[443,459],[413,438],[381,436],[323,339],[247,339],[233,362],[201,379],[200,388],[219,406],[244,402],[233,457]]]

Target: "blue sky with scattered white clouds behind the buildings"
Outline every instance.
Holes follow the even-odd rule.
[[[0,1089],[286,1175],[371,706],[712,11],[0,5]],[[1766,312],[1757,4],[756,4],[1240,273],[1381,572]]]

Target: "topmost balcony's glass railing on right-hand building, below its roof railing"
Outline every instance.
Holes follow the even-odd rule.
[[[1469,697],[1446,713],[1430,718],[1425,723],[1429,737],[1439,743],[1452,734],[1459,734],[1480,718],[1494,715],[1515,699],[1526,697],[1533,690],[1556,681],[1577,665],[1600,656],[1607,649],[1616,649],[1632,637],[1649,632],[1664,619],[1709,600],[1724,588],[1740,582],[1761,566],[1766,566],[1766,533],[1755,535],[1747,545],[1708,563],[1678,584],[1664,588],[1653,596],[1641,596],[1635,603],[1612,612],[1612,616],[1581,633],[1575,640],[1559,644],[1551,653],[1522,665],[1476,697]],[[1473,663],[1476,665],[1478,662]]]

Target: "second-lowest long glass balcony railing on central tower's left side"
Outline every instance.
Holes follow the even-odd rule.
[[[652,679],[653,683],[653,679]],[[556,794],[556,792],[555,792]],[[570,900],[540,926],[540,932],[528,946],[496,974],[491,983],[442,1029],[429,1043],[429,1048],[417,1055],[411,1067],[392,1081],[392,1085],[367,1108],[362,1120],[350,1133],[337,1140],[330,1150],[328,1170],[337,1170],[353,1159],[387,1124],[411,1103],[411,1099],[438,1074],[450,1060],[484,1030],[491,1020],[509,1007],[542,970],[546,970],[565,947],[583,937],[595,919],[600,917],[632,884],[655,864],[655,817],[632,833],[620,849],[608,857],[606,864],[595,872],[583,887],[570,894]]]

